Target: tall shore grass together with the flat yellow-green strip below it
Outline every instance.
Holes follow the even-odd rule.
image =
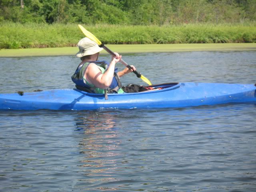
[[[256,23],[82,24],[111,50],[124,53],[256,50]],[[73,56],[84,37],[78,24],[0,22],[0,57]],[[106,52],[102,51],[103,54]]]

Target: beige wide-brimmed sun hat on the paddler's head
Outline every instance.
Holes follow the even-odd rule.
[[[76,57],[83,57],[86,55],[93,55],[103,50],[98,44],[89,38],[82,38],[78,44],[79,52],[76,53]]]

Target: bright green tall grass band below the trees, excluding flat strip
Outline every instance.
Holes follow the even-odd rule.
[[[255,43],[256,24],[121,26],[82,24],[105,44]],[[76,46],[77,24],[0,23],[0,48]]]

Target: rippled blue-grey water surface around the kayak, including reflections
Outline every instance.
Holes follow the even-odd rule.
[[[153,84],[256,83],[255,51],[123,59]],[[0,92],[74,88],[78,63],[70,56],[0,58]],[[122,83],[144,84],[134,74]],[[256,191],[255,124],[255,104],[0,111],[0,192]]]

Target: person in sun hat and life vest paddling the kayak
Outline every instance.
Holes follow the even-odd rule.
[[[76,84],[76,88],[86,92],[104,94],[108,93],[124,93],[120,82],[120,77],[135,71],[136,68],[131,66],[131,70],[117,72],[115,65],[122,58],[116,54],[112,56],[111,62],[98,61],[99,52],[103,50],[98,44],[85,37],[78,42],[79,57],[82,62],[78,65],[76,72],[72,76],[72,81]]]

